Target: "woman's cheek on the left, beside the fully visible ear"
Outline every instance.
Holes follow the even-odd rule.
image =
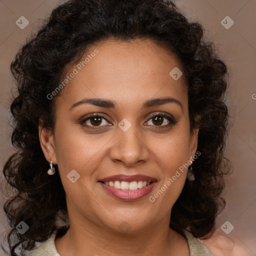
[[[57,165],[69,203],[75,200],[82,201],[84,205],[94,203],[89,191],[94,185],[91,180],[100,165],[104,144],[105,139],[85,135],[77,125],[55,126]]]

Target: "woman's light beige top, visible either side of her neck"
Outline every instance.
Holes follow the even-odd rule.
[[[55,236],[57,229],[54,230],[52,235],[40,245],[38,245],[29,256],[60,256],[55,247]],[[189,231],[184,229],[184,234],[186,236],[190,256],[214,256],[208,248],[200,243]]]

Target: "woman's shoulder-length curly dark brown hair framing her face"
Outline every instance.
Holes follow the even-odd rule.
[[[69,0],[53,9],[44,22],[10,65],[17,83],[10,105],[11,142],[17,150],[3,167],[14,191],[4,203],[11,227],[7,235],[10,254],[33,249],[35,242],[52,234],[57,220],[68,217],[58,168],[55,175],[46,172],[48,161],[40,147],[38,125],[54,130],[54,102],[60,93],[52,100],[47,94],[88,46],[109,38],[149,38],[181,61],[190,128],[199,128],[197,151],[201,155],[192,163],[195,180],[186,179],[172,207],[170,227],[179,233],[188,228],[197,238],[209,236],[225,205],[223,177],[230,169],[224,157],[228,113],[223,100],[228,73],[215,44],[203,39],[202,25],[189,22],[168,0]],[[15,228],[20,221],[29,226],[24,234]]]

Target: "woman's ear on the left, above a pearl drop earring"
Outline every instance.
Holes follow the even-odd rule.
[[[41,123],[40,121],[38,125],[41,149],[48,162],[51,160],[53,164],[57,164],[53,132],[51,129],[43,127]]]

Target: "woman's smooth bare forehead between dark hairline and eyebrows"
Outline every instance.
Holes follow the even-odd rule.
[[[74,69],[76,74],[61,91],[61,98],[67,100],[68,97],[70,102],[88,96],[133,98],[136,102],[166,94],[179,100],[187,99],[184,76],[177,80],[171,76],[171,70],[181,73],[179,60],[149,39],[97,42],[87,48],[65,75]]]

